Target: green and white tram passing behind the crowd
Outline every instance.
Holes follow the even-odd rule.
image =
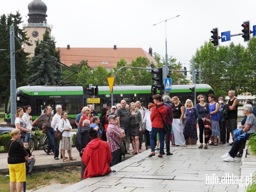
[[[207,98],[207,95],[213,93],[212,87],[208,84],[195,84],[196,97],[200,94]],[[181,103],[191,95],[189,88],[194,87],[194,84],[188,85],[172,85],[170,97],[178,96]],[[102,107],[111,107],[111,92],[108,86],[98,86],[100,103],[94,103],[95,110],[100,113]],[[69,118],[75,118],[80,113],[82,106],[87,106],[87,98],[90,95],[85,94],[85,88],[82,86],[22,86],[17,88],[17,108],[22,108],[26,105],[31,106],[31,116],[36,119],[42,113],[47,105],[51,106],[55,113],[56,105],[61,105],[63,110],[68,112]],[[127,104],[132,101],[140,100],[141,105],[147,107],[149,102],[153,102],[151,95],[151,86],[114,86],[113,87],[113,103],[116,105],[121,100],[126,100]],[[5,108],[4,121],[11,121],[11,102]]]

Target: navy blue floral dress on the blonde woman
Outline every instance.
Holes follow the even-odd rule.
[[[194,140],[198,140],[197,129],[196,129],[196,108],[186,109],[185,111],[186,122],[184,126],[183,135],[185,139],[191,137]]]

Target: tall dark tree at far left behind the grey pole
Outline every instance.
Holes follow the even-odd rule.
[[[19,28],[22,23],[22,17],[19,12],[15,14],[5,14],[0,16],[0,103],[7,103],[10,95],[10,79],[11,79],[11,66],[10,66],[10,26],[14,26],[15,35],[15,73],[16,73],[16,86],[20,87],[26,85],[28,73],[26,72],[26,63],[29,53],[23,51],[21,45],[28,41],[26,32]]]

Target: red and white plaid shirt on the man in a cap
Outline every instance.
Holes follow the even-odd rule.
[[[108,129],[107,129],[107,140],[108,140],[108,144],[110,147],[110,151],[111,153],[116,151],[117,149],[120,149],[120,147],[116,144],[121,143],[121,138],[119,138],[119,136],[122,134],[122,132],[119,130],[119,127],[117,125],[108,124]],[[116,140],[116,142],[109,136],[111,135],[113,137],[114,140]]]

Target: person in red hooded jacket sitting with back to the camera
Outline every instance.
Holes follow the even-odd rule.
[[[109,145],[99,138],[96,130],[90,128],[91,141],[86,145],[82,161],[86,165],[83,179],[88,177],[103,176],[111,171],[109,163],[112,161]]]

